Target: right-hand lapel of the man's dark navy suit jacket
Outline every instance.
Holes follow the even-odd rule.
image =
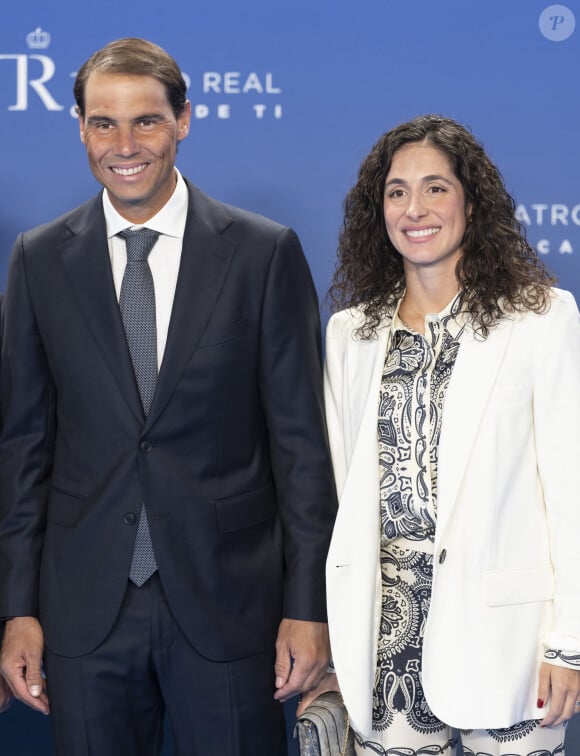
[[[223,235],[232,222],[223,205],[186,183],[189,209],[179,276],[147,425],[163,411],[181,380],[209,321],[237,246]]]

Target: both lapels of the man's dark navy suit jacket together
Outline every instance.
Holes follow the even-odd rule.
[[[179,383],[210,318],[237,246],[223,235],[231,224],[225,208],[189,183],[188,189],[189,209],[167,345],[146,426],[159,416]],[[62,245],[61,259],[77,305],[127,404],[143,423],[143,408],[115,293],[101,195],[79,208],[68,225],[72,236]]]

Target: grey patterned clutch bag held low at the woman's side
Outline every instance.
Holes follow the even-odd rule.
[[[354,756],[354,736],[340,693],[318,696],[296,721],[300,756]]]

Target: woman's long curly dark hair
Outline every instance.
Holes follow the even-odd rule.
[[[333,309],[360,306],[365,317],[357,334],[370,339],[405,291],[403,260],[385,226],[383,194],[393,155],[410,142],[431,144],[447,157],[466,206],[471,204],[456,273],[463,307],[477,332],[485,338],[505,312],[543,312],[556,279],[527,242],[499,170],[466,128],[438,115],[396,126],[363,160],[344,203],[329,292]]]

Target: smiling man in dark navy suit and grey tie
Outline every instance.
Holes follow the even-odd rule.
[[[280,702],[329,658],[308,266],[176,170],[190,105],[161,48],[107,45],[75,99],[104,191],[22,234],[6,289],[2,673],[50,699],[61,756],[158,754],[165,711],[179,754],[283,754]]]

